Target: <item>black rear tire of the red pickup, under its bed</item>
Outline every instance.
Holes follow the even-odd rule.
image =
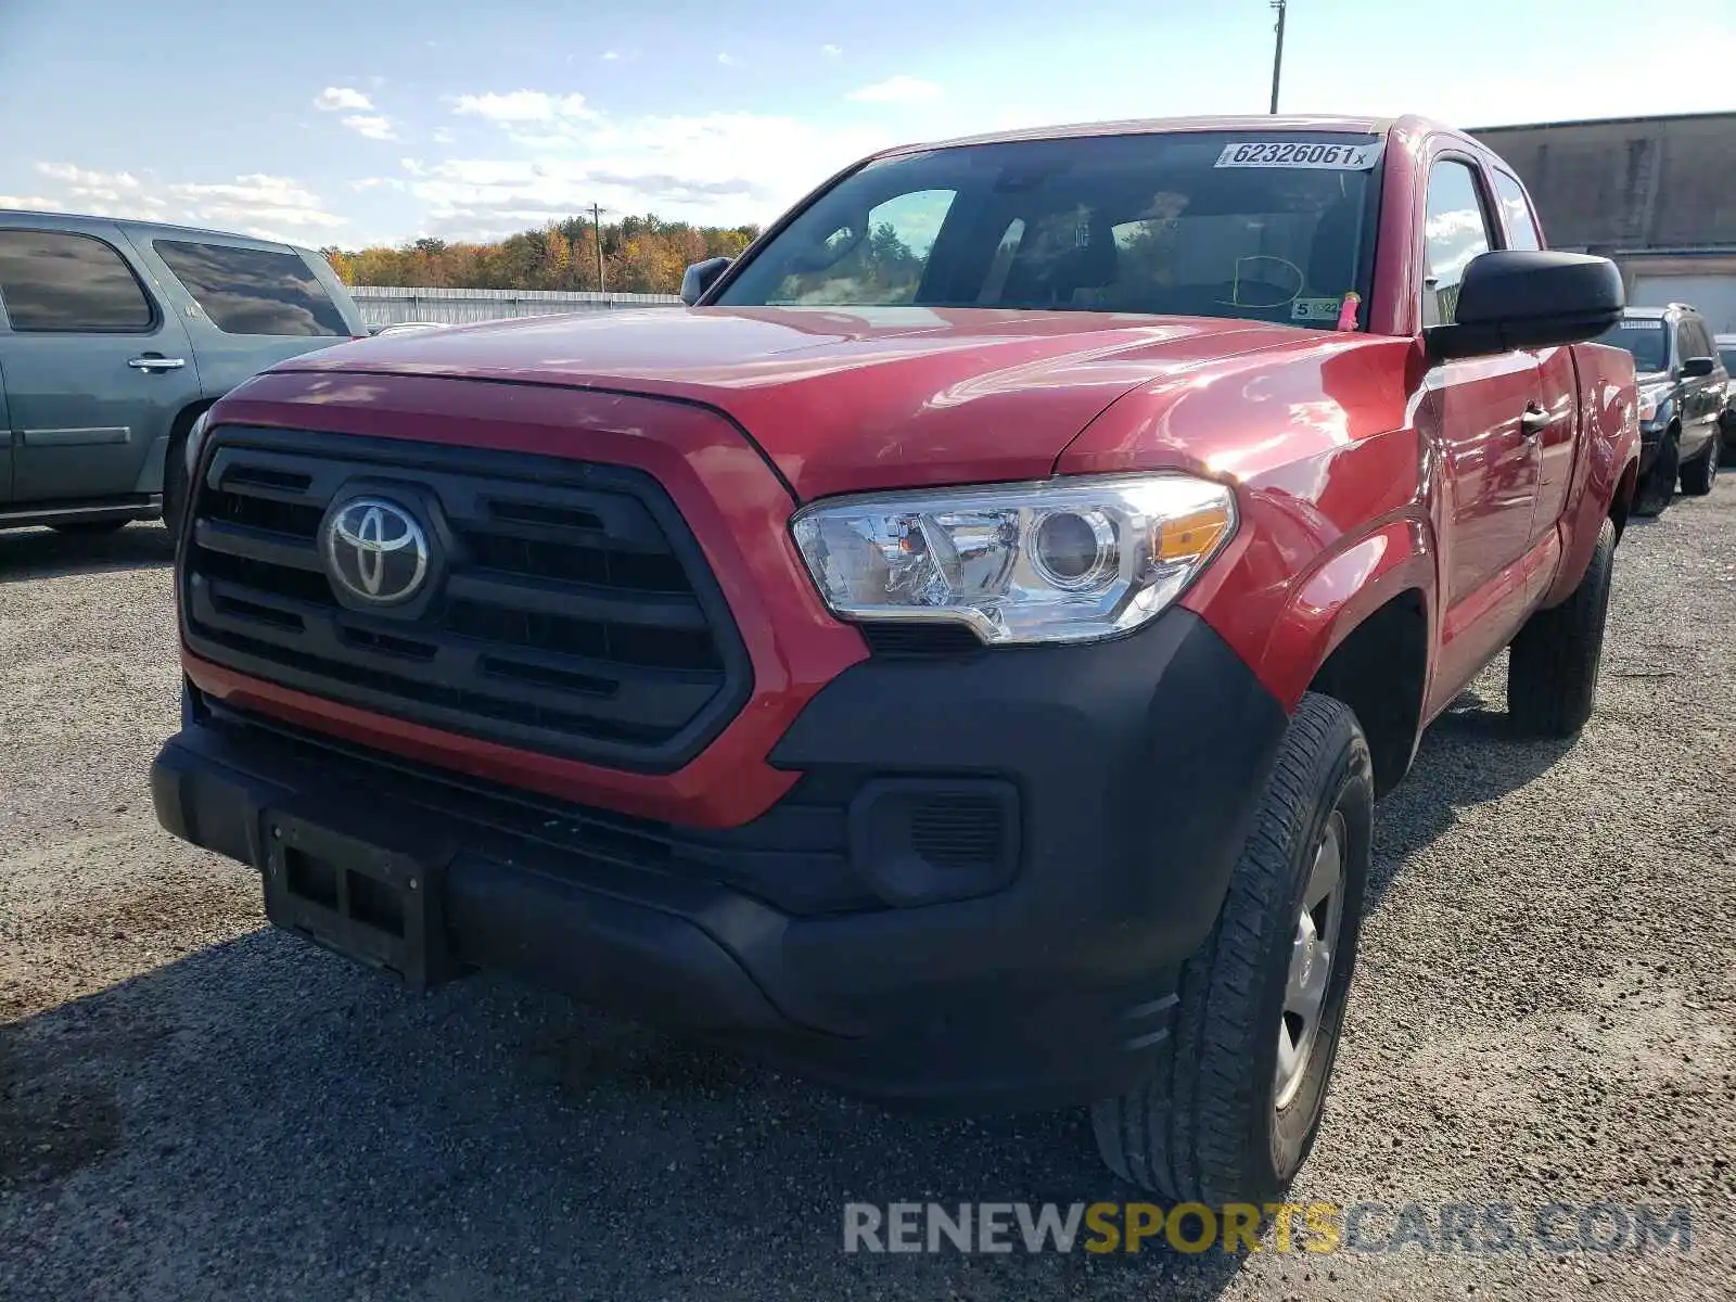
[[[1519,731],[1571,738],[1597,703],[1616,526],[1604,521],[1580,587],[1561,606],[1533,615],[1507,658],[1507,713]]]

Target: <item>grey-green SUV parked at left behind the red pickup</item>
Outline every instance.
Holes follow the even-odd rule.
[[[311,250],[0,210],[0,528],[174,519],[201,411],[274,361],[363,335]]]

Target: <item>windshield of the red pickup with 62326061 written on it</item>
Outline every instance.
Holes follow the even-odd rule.
[[[1335,328],[1366,299],[1380,142],[1094,135],[929,149],[852,172],[722,306],[1029,307]]]

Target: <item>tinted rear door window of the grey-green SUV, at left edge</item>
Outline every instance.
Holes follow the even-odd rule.
[[[0,302],[19,332],[146,333],[156,323],[115,247],[66,231],[0,231]]]

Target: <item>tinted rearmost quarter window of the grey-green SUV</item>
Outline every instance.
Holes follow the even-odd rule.
[[[297,253],[158,240],[156,255],[226,335],[347,335],[332,295]]]

